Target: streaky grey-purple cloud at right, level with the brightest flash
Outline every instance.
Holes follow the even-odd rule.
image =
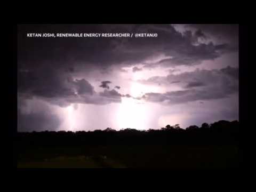
[[[223,68],[220,70],[195,70],[179,75],[169,75],[162,81],[172,82],[173,79],[197,79],[185,85],[186,90],[170,91],[166,93],[146,93],[146,101],[183,103],[197,100],[211,100],[227,98],[238,92],[238,68]],[[157,78],[154,78],[157,79]],[[152,79],[149,79],[152,81]],[[156,82],[154,82],[156,83]]]

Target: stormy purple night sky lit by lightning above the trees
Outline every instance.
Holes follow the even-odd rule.
[[[18,131],[185,129],[238,120],[238,52],[238,25],[19,25]]]

